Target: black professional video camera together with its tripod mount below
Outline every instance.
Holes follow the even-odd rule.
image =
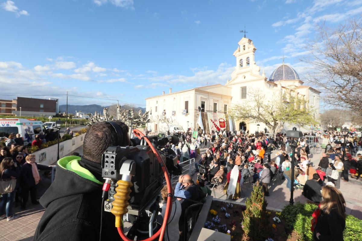
[[[177,154],[170,148],[163,148],[168,142],[177,144],[178,137],[169,135],[159,138],[151,135],[147,138],[159,152],[170,178],[172,175],[181,175],[182,168],[177,163]],[[103,154],[102,177],[110,182],[104,211],[110,212],[114,206],[117,181],[132,182],[129,206],[126,208],[128,214],[137,217],[132,226],[132,228],[135,227],[134,230],[131,229],[127,236],[140,237],[140,233],[157,230],[155,215],[159,211],[159,195],[164,186],[164,173],[156,155],[143,138],[131,139],[131,143],[133,146],[110,146]]]

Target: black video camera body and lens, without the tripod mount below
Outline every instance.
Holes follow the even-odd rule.
[[[170,175],[172,173],[179,175],[178,173],[182,172],[182,168],[177,164],[177,155],[169,148],[161,150],[161,147],[165,145],[168,139],[165,139],[165,137],[159,139],[156,136],[150,136],[149,139],[159,152]],[[174,139],[174,141],[178,141],[178,138],[177,140]],[[116,182],[125,175],[130,177],[133,184],[129,206],[127,207],[129,214],[142,215],[159,196],[164,180],[161,165],[144,140],[140,141],[139,144],[141,145],[110,146],[104,152],[102,157],[102,177],[111,179],[108,199],[104,203],[104,211],[111,211],[114,194],[116,193]]]

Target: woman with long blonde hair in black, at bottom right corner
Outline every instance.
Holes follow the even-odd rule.
[[[346,227],[346,202],[340,190],[334,186],[322,188],[323,201],[320,216],[314,229],[315,240],[343,241]]]

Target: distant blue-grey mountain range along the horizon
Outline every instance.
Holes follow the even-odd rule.
[[[141,107],[131,107],[127,105],[121,106],[122,109],[131,109],[133,108],[134,111],[137,113],[140,109],[142,110],[142,113],[146,112],[146,108]],[[67,105],[60,105],[59,106],[59,112],[63,113],[66,112]],[[103,114],[103,108],[108,108],[108,112],[110,115],[115,115],[115,112],[117,110],[117,105],[112,106],[100,106],[97,104],[91,104],[87,106],[76,106],[76,105],[68,105],[68,113],[72,113],[75,115],[75,112],[83,112],[85,114],[92,113],[94,115],[94,112],[97,111],[97,113]]]

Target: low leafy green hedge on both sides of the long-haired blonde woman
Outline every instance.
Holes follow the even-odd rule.
[[[296,231],[302,240],[313,241],[311,219],[315,208],[317,208],[317,206],[311,203],[296,203],[295,205],[285,206],[282,211],[282,217],[285,219],[287,225],[287,233],[290,234],[292,231]],[[361,241],[362,220],[352,215],[347,215],[343,237],[345,241]]]

